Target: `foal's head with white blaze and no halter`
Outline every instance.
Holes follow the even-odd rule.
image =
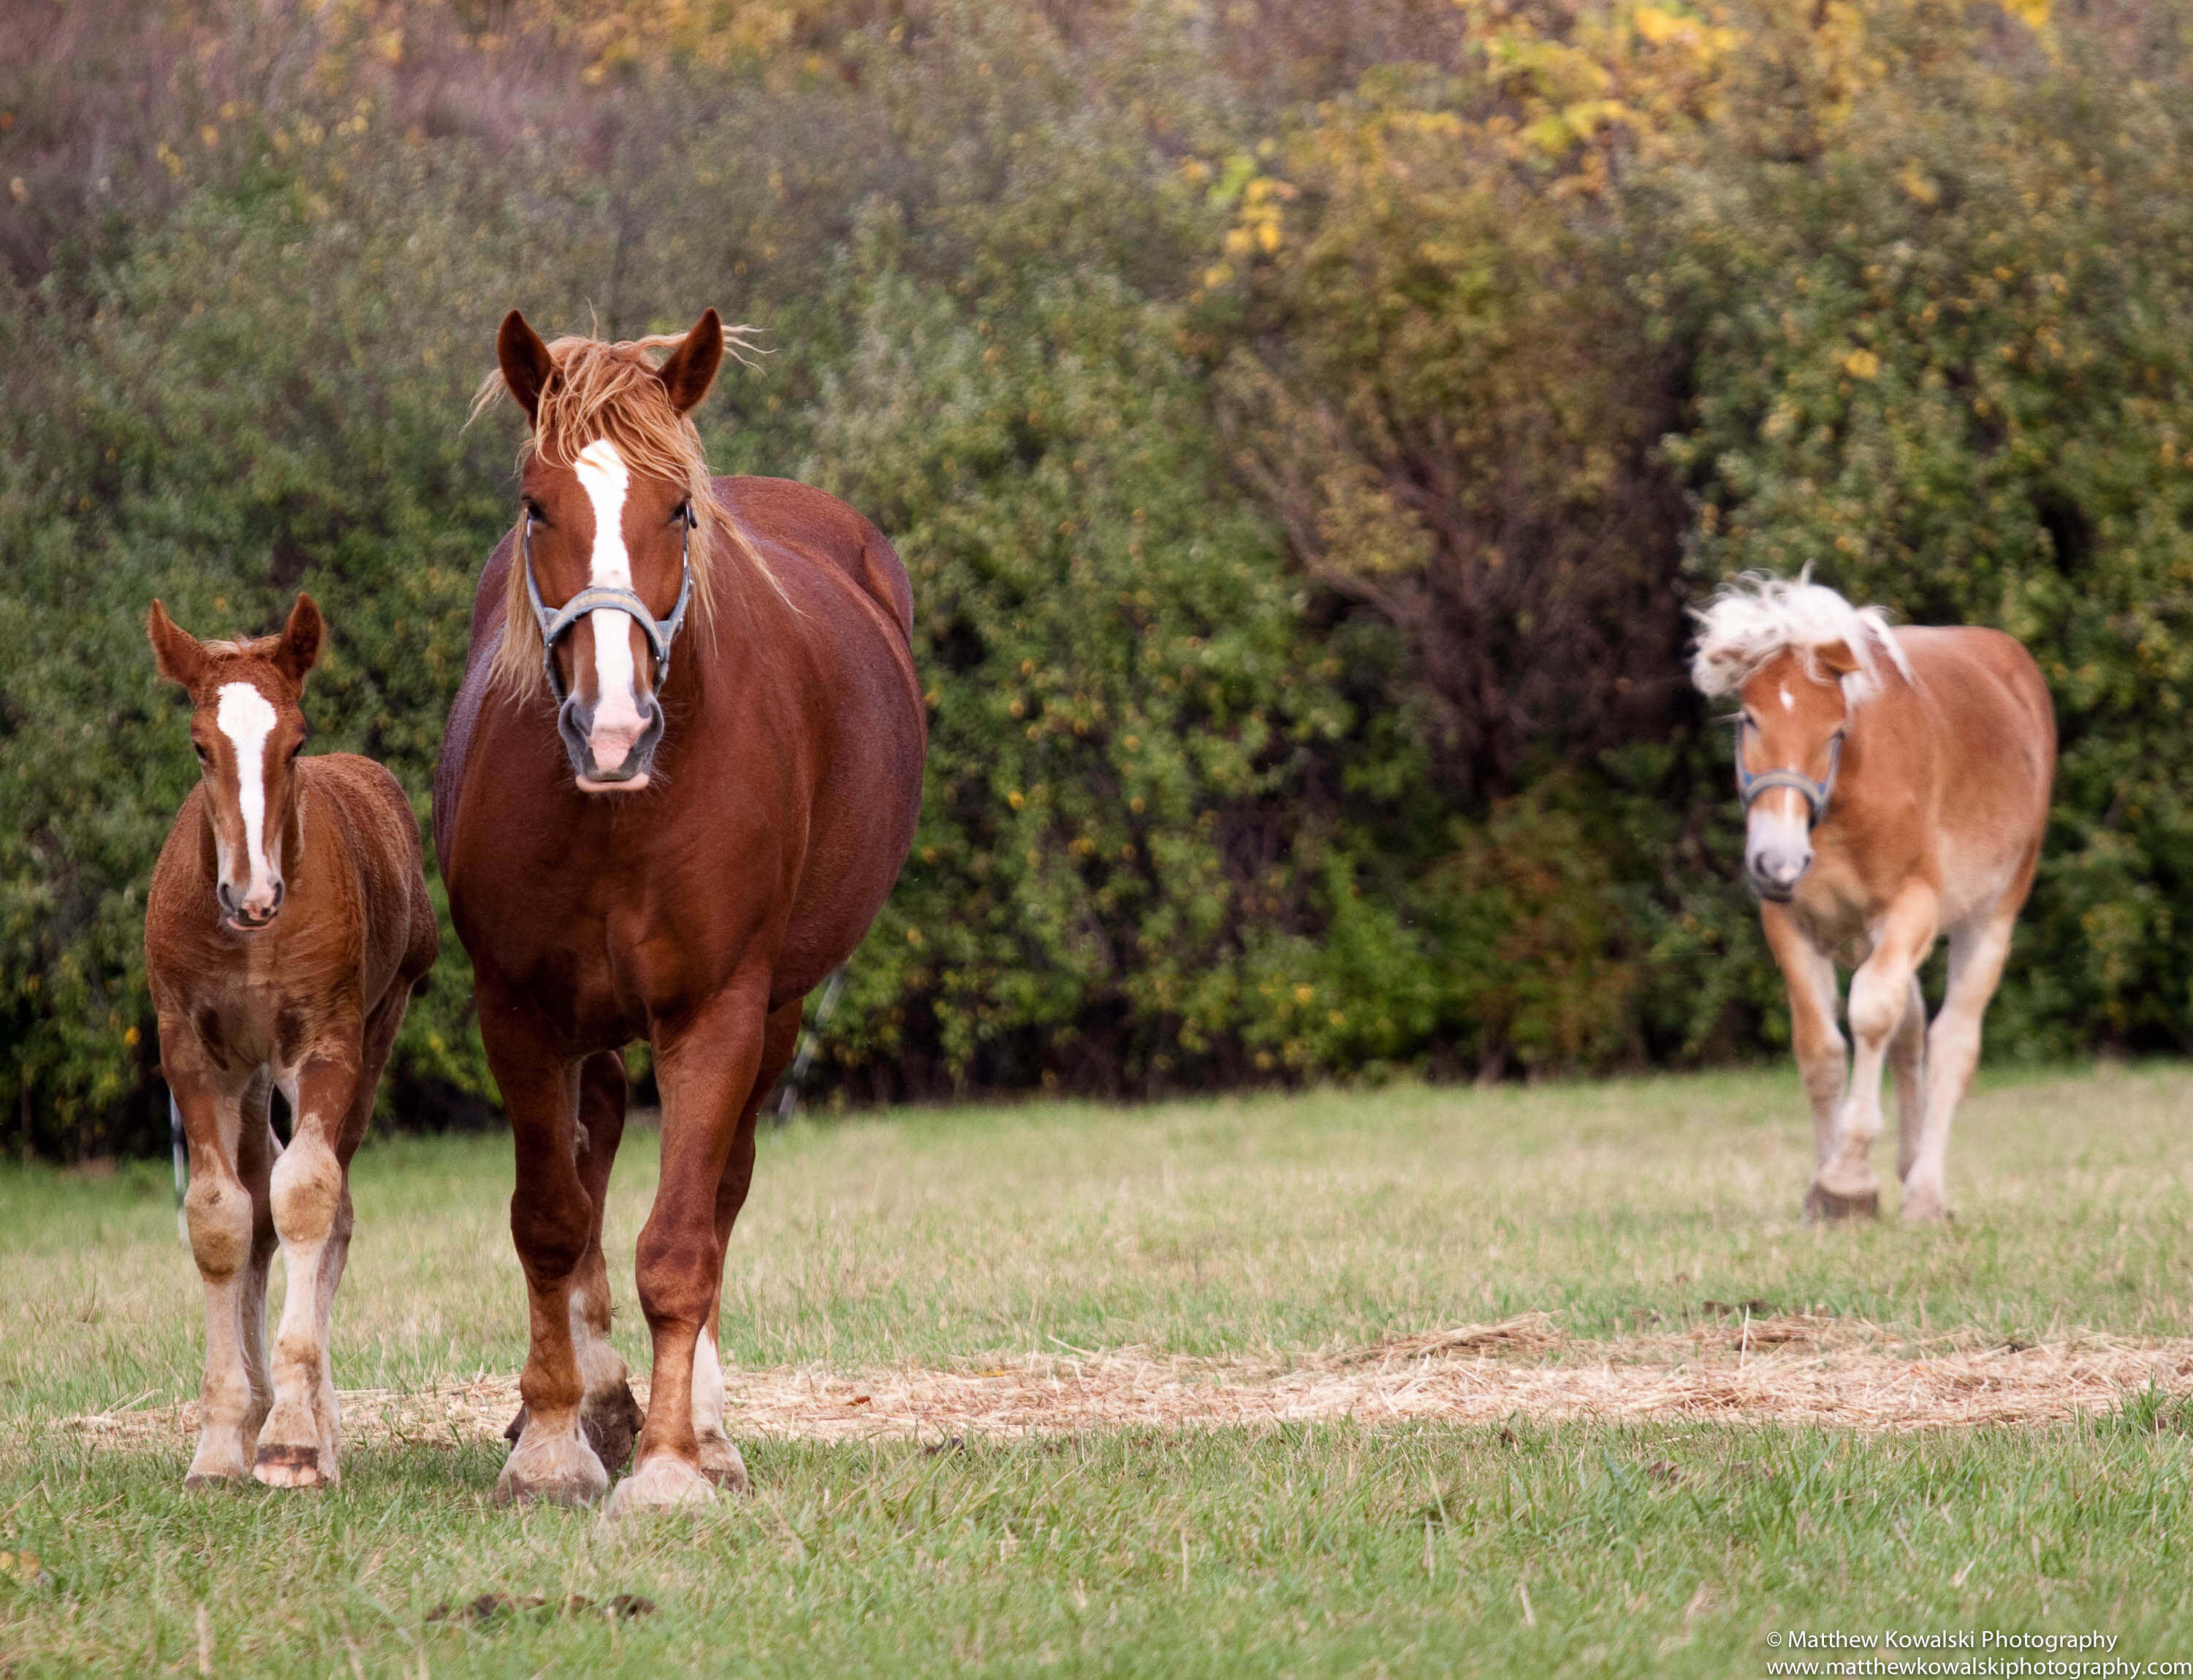
[[[213,897],[221,923],[257,932],[281,915],[283,866],[303,851],[296,754],[305,746],[305,673],[320,658],[320,608],[300,594],[279,636],[202,643],[151,603],[160,676],[191,693],[191,746],[213,827]]]

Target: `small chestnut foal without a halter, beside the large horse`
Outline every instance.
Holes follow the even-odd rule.
[[[191,693],[200,781],[145,906],[160,1070],[191,1145],[182,1200],[206,1283],[206,1382],[184,1487],[338,1480],[329,1314],[351,1252],[351,1156],[441,934],[419,822],[371,759],[300,759],[320,610],[281,636],[200,643],[151,605],[160,676]],[[289,1147],[268,1099],[289,1101]],[[268,1263],[289,1294],[268,1380]]]

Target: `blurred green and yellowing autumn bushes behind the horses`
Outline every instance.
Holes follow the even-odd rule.
[[[50,15],[48,15],[50,13]],[[2002,625],[2064,719],[1998,1024],[2184,1048],[2175,4],[239,0],[0,20],[0,1088],[158,1123],[140,621],[309,586],[423,814],[493,322],[765,329],[702,415],[908,559],[932,763],[849,1097],[1785,1031],[1682,686],[1728,570]],[[436,886],[439,890],[439,886]],[[491,1101],[454,939],[388,1105]]]

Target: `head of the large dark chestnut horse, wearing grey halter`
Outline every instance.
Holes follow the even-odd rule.
[[[704,511],[693,504],[695,474],[680,454],[691,432],[684,417],[715,382],[724,325],[708,309],[660,368],[634,351],[623,384],[605,386],[592,406],[586,393],[568,393],[566,368],[515,309],[502,320],[496,355],[535,425],[518,566],[559,702],[557,733],[581,792],[638,792],[662,739],[656,689],[695,588],[693,531]],[[588,410],[599,425],[557,415],[550,428],[544,399]],[[596,434],[586,439],[588,430]],[[669,445],[636,447],[634,439]],[[697,439],[689,456],[697,461]]]

